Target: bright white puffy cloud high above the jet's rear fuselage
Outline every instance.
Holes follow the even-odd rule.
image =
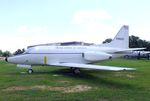
[[[84,24],[88,22],[97,22],[112,17],[102,9],[79,10],[73,15],[72,24]]]

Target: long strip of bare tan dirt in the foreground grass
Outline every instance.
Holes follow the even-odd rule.
[[[36,85],[36,86],[13,86],[3,89],[3,91],[20,91],[20,90],[29,90],[29,89],[40,89],[40,90],[49,90],[49,91],[61,91],[63,93],[74,93],[74,92],[83,92],[92,89],[91,86],[87,85],[76,85],[68,87],[52,87],[46,85]]]

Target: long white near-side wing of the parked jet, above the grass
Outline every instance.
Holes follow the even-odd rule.
[[[65,67],[76,67],[76,68],[99,69],[99,70],[109,70],[109,71],[135,70],[134,68],[114,67],[114,66],[99,66],[99,65],[80,64],[80,63],[55,63],[55,64],[51,64],[51,65],[65,66]]]

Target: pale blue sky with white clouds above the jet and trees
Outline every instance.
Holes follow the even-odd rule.
[[[0,50],[84,41],[101,44],[121,26],[150,41],[150,0],[0,0]]]

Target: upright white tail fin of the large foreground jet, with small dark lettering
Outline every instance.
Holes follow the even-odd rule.
[[[110,43],[102,44],[104,47],[129,48],[129,26],[121,27],[115,38]]]

